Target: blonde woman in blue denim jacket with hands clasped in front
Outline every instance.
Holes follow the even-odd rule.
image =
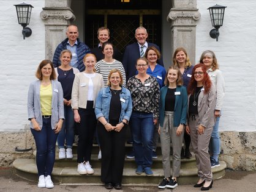
[[[124,168],[126,125],[132,114],[130,91],[122,87],[122,74],[112,69],[108,87],[100,90],[95,113],[102,151],[101,180],[105,188],[121,190]]]

